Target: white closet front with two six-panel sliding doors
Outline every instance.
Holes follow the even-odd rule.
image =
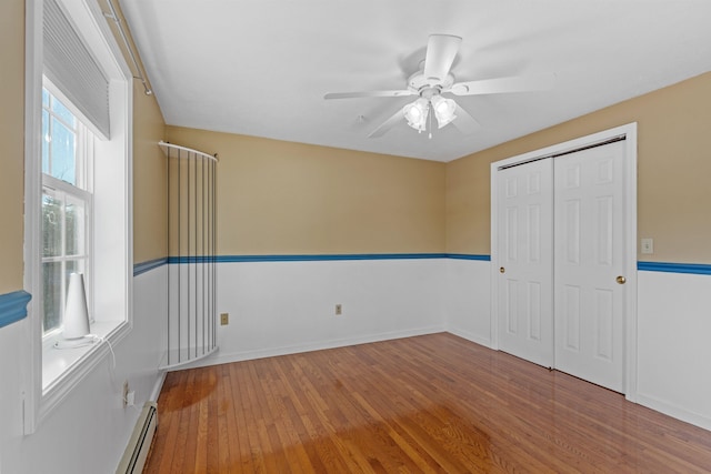
[[[618,392],[637,256],[625,138],[492,165],[498,349]]]

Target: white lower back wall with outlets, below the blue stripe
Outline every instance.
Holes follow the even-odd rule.
[[[444,331],[445,262],[219,263],[218,312],[230,322],[218,327],[219,352],[200,365]]]

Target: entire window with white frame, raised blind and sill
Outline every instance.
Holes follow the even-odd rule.
[[[132,74],[96,0],[27,0],[23,389],[32,433],[132,324]],[[69,275],[98,342],[58,349]],[[62,346],[62,344],[60,344]]]

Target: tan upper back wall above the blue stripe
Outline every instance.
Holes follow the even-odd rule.
[[[443,163],[167,127],[218,153],[223,255],[444,251]]]

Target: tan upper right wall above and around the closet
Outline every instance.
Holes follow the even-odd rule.
[[[447,165],[447,251],[490,253],[489,164],[638,122],[639,260],[711,263],[711,73],[621,102]]]

